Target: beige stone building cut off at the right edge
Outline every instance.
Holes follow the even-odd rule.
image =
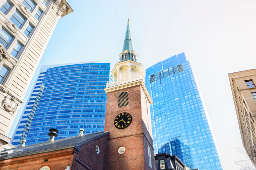
[[[256,69],[228,74],[243,147],[256,167]]]

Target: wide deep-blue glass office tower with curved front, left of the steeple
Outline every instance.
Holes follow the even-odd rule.
[[[43,66],[12,137],[18,146],[47,141],[48,130],[59,130],[57,139],[104,129],[110,63]]]

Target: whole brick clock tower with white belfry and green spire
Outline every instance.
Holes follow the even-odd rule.
[[[115,83],[107,84],[105,129],[109,131],[106,169],[155,169],[150,104],[145,70],[137,62],[127,24],[120,62],[112,70]]]

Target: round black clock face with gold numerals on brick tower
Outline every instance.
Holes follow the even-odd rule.
[[[114,125],[118,129],[128,127],[132,122],[132,116],[129,113],[120,113],[114,119]]]

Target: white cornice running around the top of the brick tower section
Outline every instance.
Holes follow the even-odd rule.
[[[136,80],[136,81],[133,81],[133,82],[129,82],[129,83],[124,83],[124,84],[120,84],[120,85],[116,85],[116,86],[112,86],[112,87],[108,87],[108,88],[105,88],[104,91],[106,93],[108,92],[112,92],[112,91],[115,91],[115,90],[120,90],[120,89],[124,89],[124,88],[127,88],[127,87],[132,87],[132,86],[137,86],[137,85],[141,85],[142,86],[142,89],[145,93],[145,95],[147,96],[148,100],[149,100],[149,103],[152,104],[153,101],[149,95],[149,92],[145,86],[145,83],[142,79],[140,80]]]

